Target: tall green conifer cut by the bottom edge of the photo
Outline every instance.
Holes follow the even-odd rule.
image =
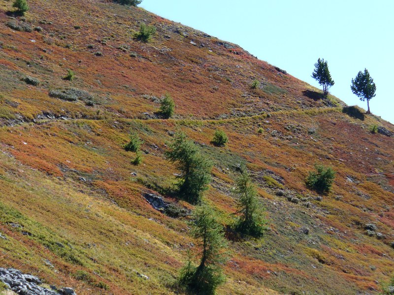
[[[200,262],[194,266],[189,253],[188,261],[180,271],[179,283],[195,294],[215,294],[216,288],[225,281],[222,265],[226,262],[223,249],[227,243],[223,227],[214,210],[207,205],[197,207],[192,220],[191,235],[198,240]]]

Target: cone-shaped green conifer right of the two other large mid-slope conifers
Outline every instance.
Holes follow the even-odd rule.
[[[267,221],[263,216],[257,189],[246,171],[236,180],[235,194],[239,214],[235,221],[235,230],[249,236],[262,236],[266,230]]]

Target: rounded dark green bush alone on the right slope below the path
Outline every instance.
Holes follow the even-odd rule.
[[[318,193],[327,193],[335,178],[335,171],[331,167],[315,165],[316,171],[309,172],[306,178],[306,185]]]

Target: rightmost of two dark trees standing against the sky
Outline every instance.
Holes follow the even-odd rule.
[[[369,75],[367,69],[364,69],[364,72],[359,72],[355,79],[352,79],[352,85],[350,86],[353,93],[356,94],[361,101],[366,99],[368,105],[367,114],[370,114],[369,110],[369,100],[372,97],[375,97],[376,85],[373,82],[373,79]]]

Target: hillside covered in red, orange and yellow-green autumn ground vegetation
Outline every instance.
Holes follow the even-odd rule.
[[[168,131],[180,129],[215,161],[206,198],[223,223],[235,211],[230,190],[240,162],[253,171],[271,221],[263,239],[230,242],[220,294],[367,294],[389,278],[393,140],[368,128],[393,131],[391,124],[351,118],[336,98],[331,101],[338,107],[328,107],[309,94],[316,89],[236,45],[226,48],[142,9],[93,0],[29,3],[27,21],[42,32],[7,28],[11,2],[0,2],[0,233],[8,238],[0,239],[2,266],[78,294],[103,293],[95,287],[100,281],[108,294],[171,294],[193,240],[186,219],[155,211],[142,192],[173,182],[176,171],[163,151]],[[39,24],[44,19],[53,24]],[[147,44],[132,40],[142,22],[158,29]],[[73,82],[62,80],[68,68],[76,73]],[[22,82],[26,75],[40,86]],[[263,86],[252,90],[255,78]],[[50,89],[70,86],[89,91],[98,104],[48,96]],[[158,108],[151,96],[165,91],[175,99],[176,117],[149,119]],[[226,148],[210,144],[216,128],[227,131]],[[311,128],[316,132],[309,134]],[[133,153],[122,149],[130,129],[149,152],[138,167],[130,164]],[[337,171],[321,202],[303,181],[315,162]],[[311,206],[275,196],[262,177],[267,169]],[[369,222],[383,239],[364,234]],[[75,279],[77,270],[90,273],[91,281]]]

